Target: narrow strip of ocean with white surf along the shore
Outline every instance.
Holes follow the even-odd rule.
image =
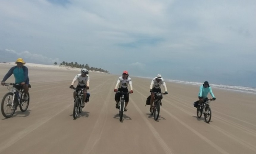
[[[139,78],[148,78],[148,77],[140,77]],[[152,78],[150,78],[152,79]],[[201,82],[189,82],[189,81],[179,81],[179,80],[168,80],[164,79],[166,82],[176,82],[176,83],[182,83],[182,84],[191,84],[191,85],[198,85],[201,86],[203,83]],[[243,86],[228,86],[228,85],[222,85],[222,84],[211,84],[210,86],[214,88],[220,88],[220,89],[226,89],[226,90],[232,90],[232,91],[237,91],[237,92],[246,92],[246,93],[251,93],[251,94],[256,94],[256,88],[251,88],[251,87],[243,87]]]

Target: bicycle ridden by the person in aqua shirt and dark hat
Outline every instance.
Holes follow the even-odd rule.
[[[212,118],[212,110],[210,108],[210,102],[212,100],[213,100],[212,98],[211,99],[204,98],[202,104],[198,105],[196,109],[196,115],[198,118],[201,118],[202,114],[204,113],[206,123],[209,123]]]

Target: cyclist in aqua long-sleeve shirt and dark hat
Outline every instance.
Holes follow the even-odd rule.
[[[205,81],[203,85],[200,86],[198,98],[199,100],[194,102],[194,107],[197,108],[198,104],[202,104],[204,101],[204,98],[207,99],[207,95],[210,92],[211,96],[213,97],[213,100],[216,100],[212,88],[209,85],[208,81]]]

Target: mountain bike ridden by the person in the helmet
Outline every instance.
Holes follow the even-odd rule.
[[[83,96],[84,96],[84,90],[87,90],[86,88],[75,88],[75,87],[69,87],[74,90],[79,90],[77,92],[76,98],[74,100],[74,108],[73,108],[73,118],[76,119],[78,112],[81,113],[82,109],[84,107],[81,106],[81,103],[83,101]]]

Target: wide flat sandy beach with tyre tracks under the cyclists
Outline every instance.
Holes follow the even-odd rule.
[[[14,65],[0,64],[1,80]],[[90,101],[74,120],[69,86],[79,69],[26,66],[32,86],[29,108],[16,110],[8,119],[0,114],[0,153],[256,153],[255,94],[213,88],[217,100],[210,104],[210,123],[205,123],[193,107],[199,86],[166,82],[168,95],[155,121],[145,107],[152,79],[131,74],[134,93],[120,122],[113,91],[119,76],[90,72]],[[6,81],[10,82],[13,76]],[[0,86],[0,100],[7,92]]]

